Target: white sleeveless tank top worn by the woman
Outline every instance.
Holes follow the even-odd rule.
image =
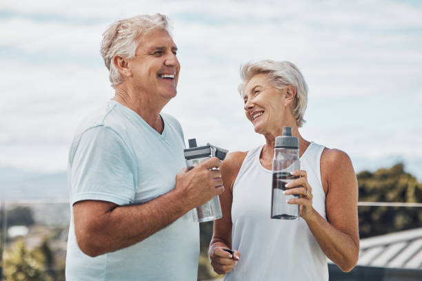
[[[241,258],[224,280],[328,281],[327,258],[305,220],[270,218],[272,171],[261,165],[261,149],[248,152],[234,181],[232,244]],[[307,171],[312,187],[312,206],[326,219],[320,169],[323,149],[310,143],[301,157],[301,169]]]

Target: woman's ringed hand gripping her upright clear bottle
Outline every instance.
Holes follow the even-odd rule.
[[[285,195],[299,195],[299,198],[292,198],[288,200],[289,204],[299,205],[299,216],[304,220],[308,220],[314,212],[312,207],[312,187],[308,183],[308,176],[306,171],[298,170],[293,171],[292,176],[299,176],[300,178],[292,180],[290,183],[285,185],[288,187],[287,190],[283,191]]]

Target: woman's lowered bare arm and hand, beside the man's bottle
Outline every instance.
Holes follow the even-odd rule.
[[[225,274],[232,271],[240,258],[240,253],[233,250],[231,255],[223,249],[232,249],[232,191],[234,180],[245,159],[246,152],[233,152],[223,161],[220,167],[223,179],[224,192],[220,195],[221,212],[223,218],[214,220],[214,231],[210,242],[210,258],[214,271]]]

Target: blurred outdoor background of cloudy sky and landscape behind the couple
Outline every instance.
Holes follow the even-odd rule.
[[[421,1],[2,0],[6,280],[64,280],[68,149],[81,118],[114,94],[101,34],[121,18],[156,12],[170,18],[181,63],[177,97],[163,111],[181,122],[186,143],[230,151],[263,143],[244,116],[239,68],[259,59],[295,63],[310,88],[303,137],[349,154],[359,201],[408,203],[359,207],[361,238],[375,240],[363,242],[360,271],[341,278],[365,270],[421,278]],[[209,266],[210,231],[201,224],[199,280],[222,278]],[[341,275],[335,266],[330,274]]]

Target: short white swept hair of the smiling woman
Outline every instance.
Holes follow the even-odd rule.
[[[301,74],[299,68],[288,61],[271,61],[263,60],[257,62],[248,62],[241,67],[242,83],[239,85],[239,93],[244,94],[245,85],[257,74],[266,74],[271,85],[282,90],[287,85],[296,88],[296,96],[294,98],[294,106],[292,114],[296,118],[297,127],[302,127],[305,120],[306,106],[308,105],[308,85]]]

